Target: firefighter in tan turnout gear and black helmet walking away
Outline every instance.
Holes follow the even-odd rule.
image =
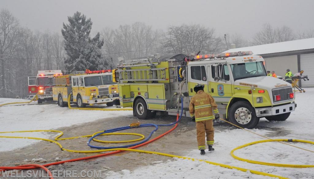
[[[196,122],[198,149],[201,151],[201,155],[205,155],[205,133],[208,151],[214,151],[213,120],[219,119],[219,111],[214,98],[204,92],[203,84],[196,84],[194,91],[196,94],[190,101],[189,112],[192,117],[192,121]],[[215,116],[213,115],[212,110],[214,110]]]

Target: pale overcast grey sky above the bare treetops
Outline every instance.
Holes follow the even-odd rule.
[[[31,30],[60,32],[67,16],[79,11],[92,19],[93,32],[134,22],[154,29],[195,23],[247,39],[264,23],[296,33],[314,29],[313,6],[312,0],[0,0],[1,8]]]

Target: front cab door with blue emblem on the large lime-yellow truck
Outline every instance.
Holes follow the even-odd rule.
[[[232,75],[230,73],[229,65],[227,64],[210,64],[208,66],[208,79],[210,95],[216,102],[228,103],[232,96],[231,81]],[[216,78],[216,81],[214,80]],[[219,81],[217,82],[217,78]]]

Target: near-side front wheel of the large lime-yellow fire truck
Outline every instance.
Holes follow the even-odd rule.
[[[230,107],[228,118],[231,123],[242,127],[252,129],[259,122],[254,108],[249,102],[238,101]]]

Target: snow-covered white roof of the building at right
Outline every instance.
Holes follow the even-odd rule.
[[[225,52],[252,51],[254,55],[314,49],[314,38],[229,49]]]

